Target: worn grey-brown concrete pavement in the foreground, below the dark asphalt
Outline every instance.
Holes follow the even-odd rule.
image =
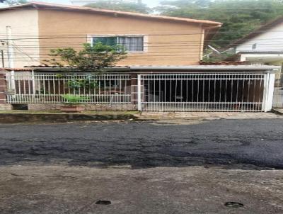
[[[283,171],[0,167],[0,213],[283,213]],[[110,205],[98,205],[110,201]],[[226,202],[242,203],[229,208]]]

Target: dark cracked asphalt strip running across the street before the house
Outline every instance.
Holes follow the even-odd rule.
[[[283,169],[283,120],[0,125],[0,165]]]

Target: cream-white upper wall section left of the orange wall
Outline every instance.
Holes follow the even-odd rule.
[[[0,40],[6,39],[6,26],[12,28],[14,45],[14,67],[38,65],[39,61],[39,40],[38,40],[38,12],[37,10],[15,10],[0,11]],[[33,38],[31,40],[17,40],[22,38]],[[4,50],[5,67],[7,62],[7,46],[0,43],[0,49]],[[0,55],[1,59],[1,55]],[[2,63],[0,60],[0,67]]]

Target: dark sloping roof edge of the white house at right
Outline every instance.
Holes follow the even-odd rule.
[[[283,16],[279,16],[275,20],[270,21],[269,23],[265,24],[264,26],[261,26],[260,28],[258,28],[257,30],[253,31],[252,33],[246,35],[245,37],[243,37],[243,38],[241,38],[239,40],[236,40],[236,42],[234,42],[231,45],[229,45],[229,47],[235,47],[237,45],[241,45],[243,43],[246,43],[246,41],[251,40],[251,39],[257,37],[258,35],[261,35],[262,33],[265,33],[267,30],[270,30],[271,28],[274,28],[275,26],[279,25],[282,22],[283,22]]]

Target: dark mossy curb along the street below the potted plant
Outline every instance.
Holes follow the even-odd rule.
[[[71,113],[1,113],[0,123],[64,123],[73,121],[92,121],[92,120],[137,120],[138,117],[132,114],[71,114]]]

